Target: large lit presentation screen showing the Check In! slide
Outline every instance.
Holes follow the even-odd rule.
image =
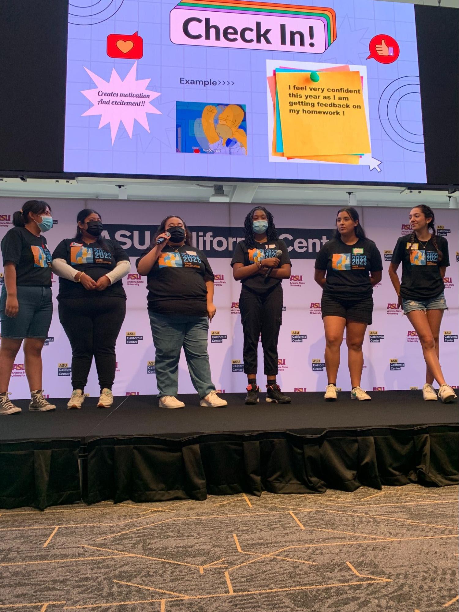
[[[69,4],[64,171],[427,181],[412,4]]]

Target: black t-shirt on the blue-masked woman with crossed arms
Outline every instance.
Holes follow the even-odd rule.
[[[283,240],[269,240],[266,242],[256,242],[255,247],[248,247],[244,240],[241,240],[236,244],[234,249],[233,259],[231,259],[231,266],[234,264],[244,264],[244,266],[250,266],[257,261],[263,263],[263,259],[269,259],[276,256],[276,251],[282,251],[280,257],[279,266],[284,264],[290,264],[291,261],[288,255],[287,245]],[[265,277],[264,274],[256,272],[252,276],[241,279],[241,283],[252,291],[260,292],[271,289],[275,285],[282,282],[282,278],[271,278],[271,276]]]

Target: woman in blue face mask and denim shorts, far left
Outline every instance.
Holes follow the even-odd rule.
[[[0,295],[0,414],[21,412],[8,398],[15,357],[24,341],[24,367],[31,390],[29,410],[55,410],[43,397],[42,348],[53,316],[51,253],[42,232],[51,230],[51,207],[29,200],[13,214],[1,242],[4,285]]]

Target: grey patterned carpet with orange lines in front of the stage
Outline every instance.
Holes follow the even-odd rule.
[[[457,487],[0,515],[0,611],[458,610]]]

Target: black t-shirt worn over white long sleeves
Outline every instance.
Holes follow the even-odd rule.
[[[75,269],[84,272],[92,280],[99,280],[107,272],[111,272],[118,261],[129,261],[129,256],[116,240],[105,240],[103,245],[98,242],[83,242],[74,238],[65,238],[54,249],[53,259],[65,259],[65,262]],[[74,280],[59,278],[58,299],[73,297],[126,297],[122,281],[108,285],[104,291],[88,291],[81,283]]]

